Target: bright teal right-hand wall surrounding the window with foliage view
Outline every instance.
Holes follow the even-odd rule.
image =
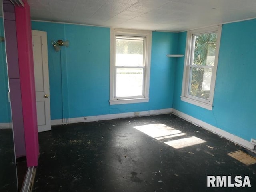
[[[178,34],[185,53],[186,32]],[[212,111],[182,102],[184,58],[177,60],[173,108],[245,140],[256,138],[256,20],[222,26]]]

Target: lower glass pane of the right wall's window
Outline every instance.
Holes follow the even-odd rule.
[[[209,100],[212,69],[192,67],[190,74],[189,94]]]

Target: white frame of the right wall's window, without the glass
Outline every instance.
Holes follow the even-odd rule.
[[[221,30],[222,30],[222,26],[218,25],[218,26],[212,26],[209,28],[191,30],[191,31],[187,32],[181,100],[184,102],[188,102],[190,104],[194,104],[196,106],[200,106],[202,108],[206,108],[208,110],[212,110],[212,104],[213,104],[213,99],[214,99],[214,89],[215,89],[216,72],[217,72],[217,66],[218,66]],[[190,90],[190,75],[191,75],[190,68],[192,68],[191,62],[193,62],[192,59],[194,58],[193,36],[200,35],[200,34],[207,34],[207,33],[211,33],[211,32],[217,32],[217,39],[216,39],[214,66],[206,67],[206,68],[212,68],[209,100],[206,100],[206,99],[199,98],[199,97],[192,96],[192,95],[188,94],[188,90]],[[199,68],[205,68],[205,67],[200,66]]]

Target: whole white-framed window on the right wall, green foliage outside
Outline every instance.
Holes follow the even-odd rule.
[[[221,26],[187,33],[181,100],[212,110]]]

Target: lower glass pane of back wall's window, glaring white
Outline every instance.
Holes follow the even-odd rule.
[[[116,69],[116,97],[143,95],[143,68]]]

